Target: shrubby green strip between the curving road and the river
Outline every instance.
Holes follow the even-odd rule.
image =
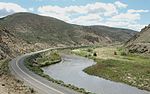
[[[82,93],[82,94],[94,94],[94,93],[85,91],[85,89],[83,89],[83,88],[78,88],[78,87],[71,85],[71,84],[65,84],[61,80],[56,80],[56,79],[50,77],[49,75],[44,74],[43,70],[41,69],[42,67],[56,64],[59,62],[61,62],[61,57],[58,54],[58,52],[57,51],[50,51],[50,52],[32,55],[32,56],[26,58],[25,59],[25,66],[28,69],[30,69],[31,71],[35,72],[36,74],[46,78],[47,80],[49,80],[53,83],[56,83],[56,84],[59,84],[61,86],[70,88],[70,89],[75,90],[75,91]]]

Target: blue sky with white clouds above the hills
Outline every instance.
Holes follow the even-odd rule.
[[[137,31],[150,24],[150,0],[0,0],[0,18],[17,12]]]

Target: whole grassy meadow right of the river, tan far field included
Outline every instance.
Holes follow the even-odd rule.
[[[150,91],[150,56],[131,54],[121,47],[73,50],[97,62],[83,71]]]

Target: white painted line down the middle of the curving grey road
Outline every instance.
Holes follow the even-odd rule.
[[[21,72],[23,72],[25,75],[27,75],[27,76],[30,77],[31,79],[35,80],[36,82],[38,82],[38,83],[44,85],[45,87],[47,87],[47,88],[49,88],[49,89],[51,89],[51,90],[53,90],[53,91],[56,91],[56,92],[58,92],[58,93],[60,93],[60,94],[64,94],[64,93],[62,93],[61,91],[58,91],[58,90],[56,90],[56,89],[54,89],[54,88],[52,88],[52,87],[49,87],[48,85],[46,85],[46,84],[44,84],[44,83],[38,81],[37,79],[35,79],[35,78],[33,78],[32,76],[30,76],[30,75],[28,75],[27,73],[25,73],[25,72],[19,67],[19,65],[18,65],[18,63],[19,63],[18,61],[19,61],[19,60],[20,60],[20,59],[17,59],[17,60],[16,60],[16,65],[17,65],[17,67],[20,69]],[[26,81],[27,81],[27,79],[26,79]]]

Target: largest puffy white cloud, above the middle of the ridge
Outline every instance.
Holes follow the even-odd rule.
[[[55,17],[60,20],[82,25],[93,25],[100,23],[101,16],[112,16],[118,13],[116,6],[111,3],[96,2],[80,6],[40,6],[38,12],[44,16]]]

